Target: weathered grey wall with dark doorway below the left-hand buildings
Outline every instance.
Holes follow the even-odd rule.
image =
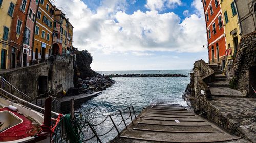
[[[74,87],[74,57],[51,56],[45,63],[1,74],[14,87],[34,98],[42,92],[54,94]]]

